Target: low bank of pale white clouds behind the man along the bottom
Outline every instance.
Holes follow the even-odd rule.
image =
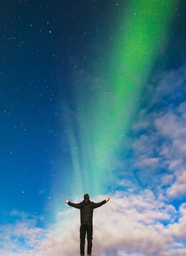
[[[103,195],[94,198],[95,202],[102,200]],[[93,255],[162,256],[175,248],[183,249],[185,213],[185,203],[176,210],[171,204],[157,199],[148,189],[128,197],[117,191],[109,202],[94,210]],[[172,223],[178,216],[178,222]],[[0,249],[0,255],[77,254],[80,251],[79,229],[80,211],[68,205],[64,212],[58,213],[57,222],[48,229],[37,228],[32,220],[1,226],[0,248],[3,246],[3,249]],[[19,243],[20,237],[24,237],[25,244]]]

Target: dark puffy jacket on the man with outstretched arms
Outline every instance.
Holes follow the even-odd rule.
[[[106,200],[102,202],[91,202],[89,199],[85,199],[80,203],[73,203],[68,201],[68,205],[80,209],[81,224],[91,223],[93,224],[93,209],[100,207],[106,203]]]

